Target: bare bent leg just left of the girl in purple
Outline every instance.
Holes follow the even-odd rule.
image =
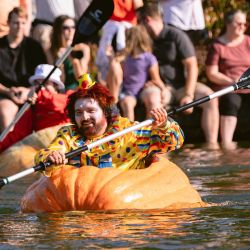
[[[121,64],[117,60],[113,59],[110,62],[110,67],[107,74],[107,87],[111,94],[115,97],[116,103],[118,102],[122,81],[123,71]]]

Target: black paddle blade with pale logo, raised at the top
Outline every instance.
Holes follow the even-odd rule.
[[[93,0],[76,25],[76,32],[71,46],[88,42],[108,21],[113,10],[113,0]]]

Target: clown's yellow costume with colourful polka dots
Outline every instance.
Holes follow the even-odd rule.
[[[90,144],[98,139],[133,126],[135,123],[119,116],[105,134],[87,141],[86,138],[77,133],[75,125],[62,127],[50,146],[37,153],[35,161],[37,164],[45,161],[48,154],[53,150],[60,150],[67,153],[83,146],[85,143]],[[113,167],[124,170],[145,168],[145,158],[149,154],[165,153],[178,149],[183,144],[183,140],[183,132],[179,125],[173,120],[168,120],[165,127],[143,127],[89,151],[82,152],[79,156],[78,167],[92,165],[98,168]],[[71,164],[70,161],[69,164]],[[73,164],[72,162],[72,165],[76,166],[77,164]]]

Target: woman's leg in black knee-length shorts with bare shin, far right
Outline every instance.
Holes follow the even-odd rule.
[[[238,94],[230,93],[222,96],[219,103],[221,144],[225,148],[232,148],[241,97]]]

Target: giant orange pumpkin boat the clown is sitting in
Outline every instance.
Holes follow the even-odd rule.
[[[163,157],[140,170],[65,165],[33,183],[21,200],[23,212],[204,205],[183,171]]]

